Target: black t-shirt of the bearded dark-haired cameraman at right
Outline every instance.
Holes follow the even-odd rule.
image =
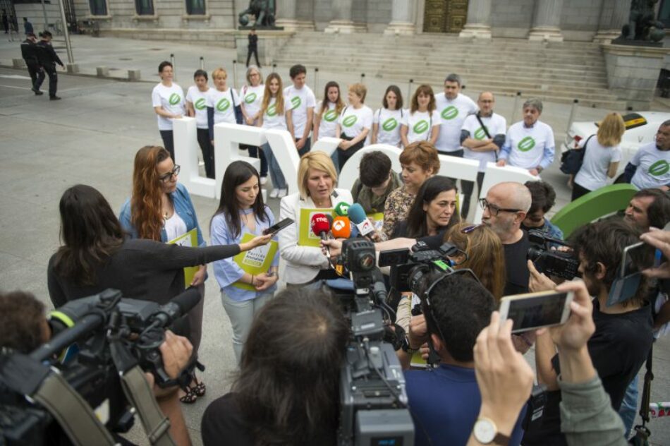
[[[595,332],[587,343],[593,366],[609,394],[612,407],[619,410],[628,384],[645,363],[652,346],[652,311],[649,304],[628,313],[607,314],[593,301]],[[552,358],[556,374],[561,373],[559,356]],[[542,423],[528,430],[523,438],[526,445],[563,445],[559,403],[561,392],[549,392],[544,406]]]

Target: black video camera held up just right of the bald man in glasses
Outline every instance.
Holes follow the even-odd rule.
[[[533,245],[528,248],[528,260],[532,261],[537,271],[567,280],[572,280],[578,275],[579,259],[575,251],[572,249],[569,252],[555,251],[549,246],[554,244],[570,248],[568,243],[552,239],[540,229],[528,231],[528,241]]]

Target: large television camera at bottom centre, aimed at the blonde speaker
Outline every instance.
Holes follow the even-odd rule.
[[[343,241],[336,264],[343,275],[351,274],[355,294],[345,303],[351,339],[340,375],[341,446],[414,444],[405,378],[396,342],[387,336],[393,310],[386,306],[384,278],[375,263],[370,241]]]

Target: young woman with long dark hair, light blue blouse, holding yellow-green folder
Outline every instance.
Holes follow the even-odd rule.
[[[272,210],[263,203],[256,169],[248,162],[231,162],[221,183],[219,208],[210,224],[212,245],[240,243],[262,235],[274,223]],[[279,279],[276,242],[271,241],[269,249],[252,251],[250,255],[254,263],[261,264],[261,270],[249,267],[244,254],[214,262],[221,302],[233,327],[233,351],[238,364],[254,315],[272,299]],[[263,270],[266,265],[268,269]]]

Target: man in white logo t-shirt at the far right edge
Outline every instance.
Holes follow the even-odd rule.
[[[635,152],[623,172],[626,182],[638,189],[670,189],[670,120],[656,132],[656,141]]]

